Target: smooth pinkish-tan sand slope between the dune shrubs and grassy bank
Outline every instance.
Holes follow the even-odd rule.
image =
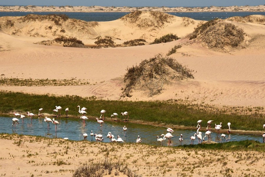
[[[167,24],[168,31],[165,30],[166,28],[161,31],[170,32],[170,29],[177,25],[177,30],[183,32],[183,35],[191,32],[193,27],[191,25],[185,27],[181,25],[182,22],[181,18],[176,17]],[[121,87],[124,87],[122,76],[126,73],[127,67],[139,64],[142,60],[158,53],[165,55],[170,48],[182,44],[183,47],[171,56],[194,70],[194,80],[169,81],[160,95],[147,97],[145,91],[134,91],[133,96],[126,99],[183,99],[217,106],[265,106],[265,26],[250,22],[226,22],[236,24],[246,32],[244,47],[230,50],[229,53],[208,49],[200,43],[191,43],[185,38],[155,45],[84,49],[36,45],[32,42],[45,38],[14,36],[0,32],[2,47],[0,74],[4,74],[4,77],[77,78],[85,79],[91,84],[58,87],[1,86],[1,90],[97,96],[117,100],[121,95]],[[170,27],[173,24],[175,26]],[[136,29],[136,25],[129,25]],[[106,34],[112,31],[106,29],[123,29],[124,26],[120,26],[121,21],[117,20],[104,22],[95,29],[98,33]],[[119,35],[126,37],[131,32],[128,29],[120,30]],[[134,32],[134,34],[140,33],[149,34],[145,29]],[[131,38],[135,36],[132,35]]]

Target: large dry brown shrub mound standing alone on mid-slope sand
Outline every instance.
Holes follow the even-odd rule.
[[[146,89],[148,96],[161,93],[166,81],[184,78],[194,78],[192,70],[181,65],[173,58],[163,57],[161,54],[149,60],[143,60],[139,66],[127,68],[123,81],[122,97],[131,97],[133,89]]]

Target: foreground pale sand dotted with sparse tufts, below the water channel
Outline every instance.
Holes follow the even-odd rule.
[[[178,150],[143,144],[120,146],[18,135],[2,135],[0,143],[0,151],[4,152],[0,156],[2,176],[72,176],[82,164],[103,162],[106,152],[113,163],[124,162],[143,176],[264,176],[265,154],[260,152]],[[57,161],[68,165],[58,166]],[[104,177],[115,176],[115,171]],[[119,173],[119,176],[126,175]]]

